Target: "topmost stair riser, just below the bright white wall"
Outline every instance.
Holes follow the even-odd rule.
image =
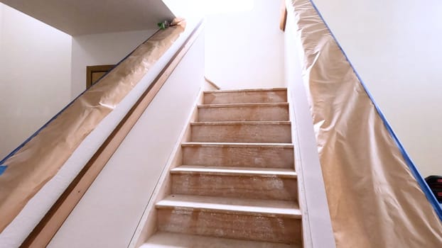
[[[285,88],[204,92],[204,104],[284,103],[286,101],[287,90]]]

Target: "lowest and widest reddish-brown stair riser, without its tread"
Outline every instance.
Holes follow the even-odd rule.
[[[188,209],[159,209],[158,230],[190,235],[301,244],[301,220]]]

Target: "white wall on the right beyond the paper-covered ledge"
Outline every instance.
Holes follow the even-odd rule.
[[[315,2],[421,174],[442,174],[442,2]]]

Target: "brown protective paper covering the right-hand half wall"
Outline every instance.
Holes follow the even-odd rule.
[[[442,225],[311,1],[289,0],[337,247],[442,247]]]

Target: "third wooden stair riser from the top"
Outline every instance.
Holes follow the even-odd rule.
[[[291,143],[290,121],[190,123],[192,142]]]

